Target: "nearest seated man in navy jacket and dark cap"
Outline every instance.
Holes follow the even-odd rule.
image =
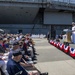
[[[39,75],[37,71],[28,72],[24,67],[20,65],[22,58],[22,52],[16,51],[13,53],[12,58],[7,62],[7,71],[9,75]]]

